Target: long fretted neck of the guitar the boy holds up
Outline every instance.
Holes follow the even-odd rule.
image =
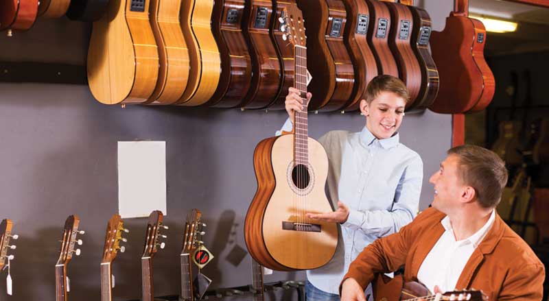
[[[307,165],[308,152],[308,113],[307,113],[307,48],[296,45],[294,86],[299,90],[305,110],[294,115],[294,162]]]

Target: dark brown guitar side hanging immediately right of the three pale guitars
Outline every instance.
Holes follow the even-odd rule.
[[[242,33],[244,0],[215,1],[211,29],[218,42],[221,74],[210,106],[233,108],[240,106],[252,80],[252,61]]]

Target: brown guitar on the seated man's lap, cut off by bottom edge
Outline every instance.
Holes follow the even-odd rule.
[[[378,274],[373,281],[373,300],[375,301],[415,301],[415,300],[467,300],[467,301],[487,301],[486,296],[482,291],[463,290],[463,291],[447,291],[439,296],[432,295],[429,289],[423,284],[415,281],[405,282],[402,275],[395,275],[395,278],[390,278],[384,274]]]

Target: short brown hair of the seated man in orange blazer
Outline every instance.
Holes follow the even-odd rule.
[[[476,145],[452,147],[448,154],[459,156],[460,177],[463,184],[475,189],[480,206],[498,206],[508,177],[505,162],[491,150]]]

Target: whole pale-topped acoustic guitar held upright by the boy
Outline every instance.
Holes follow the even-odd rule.
[[[307,108],[307,48],[301,11],[288,6],[289,43],[295,47],[295,87]],[[292,149],[292,152],[290,152]],[[257,192],[248,208],[244,237],[251,256],[270,269],[288,271],[325,265],[336,251],[338,228],[313,221],[307,212],[328,212],[324,187],[326,151],[307,134],[307,110],[296,112],[294,134],[259,142],[254,153]]]

